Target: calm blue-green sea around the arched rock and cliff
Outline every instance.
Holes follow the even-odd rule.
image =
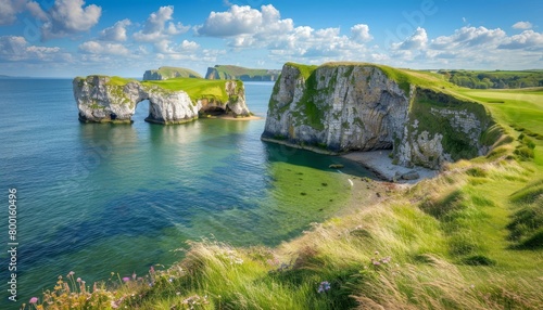
[[[256,115],[272,89],[245,85]],[[168,266],[187,240],[277,245],[340,208],[351,175],[369,176],[338,157],[262,142],[264,120],[152,125],[144,102],[132,125],[80,124],[71,80],[0,80],[0,93],[1,309],[16,309],[5,284],[11,188],[17,297],[27,301],[70,271],[92,283]]]

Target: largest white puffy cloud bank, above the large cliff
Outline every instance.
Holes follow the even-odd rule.
[[[272,4],[260,10],[233,4],[225,12],[212,12],[194,29],[200,36],[226,38],[233,50],[267,49],[279,61],[361,60],[364,43],[372,39],[364,24],[354,25],[349,35],[342,35],[340,28],[294,27],[294,22],[281,18]]]

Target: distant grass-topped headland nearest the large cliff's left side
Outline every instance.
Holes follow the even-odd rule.
[[[275,81],[279,77],[279,69],[251,69],[232,65],[215,65],[209,67],[206,79],[239,79],[242,81]]]

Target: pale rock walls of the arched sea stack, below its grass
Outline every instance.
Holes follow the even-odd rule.
[[[79,109],[79,119],[85,122],[131,122],[136,105],[149,100],[147,121],[180,124],[197,119],[200,112],[215,102],[224,113],[248,116],[243,86],[235,81],[225,82],[226,102],[201,98],[191,100],[182,90],[168,90],[156,85],[143,85],[136,80],[117,77],[88,76],[73,80],[74,98]]]

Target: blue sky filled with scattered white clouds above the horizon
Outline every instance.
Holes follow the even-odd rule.
[[[543,68],[541,0],[0,0],[0,75],[369,62]]]

